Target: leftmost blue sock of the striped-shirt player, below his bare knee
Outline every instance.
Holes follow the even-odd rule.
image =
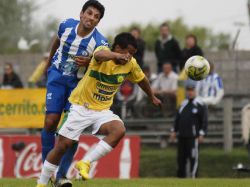
[[[42,160],[46,160],[47,154],[54,148],[55,132],[48,132],[45,129],[41,133],[42,139]]]

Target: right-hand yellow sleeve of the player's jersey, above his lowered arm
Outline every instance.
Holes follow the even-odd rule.
[[[133,83],[141,82],[144,79],[145,74],[143,73],[142,69],[137,64],[134,58],[131,60],[131,63],[132,63],[132,69],[127,79]]]

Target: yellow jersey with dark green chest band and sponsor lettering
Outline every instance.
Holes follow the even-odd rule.
[[[100,46],[93,54],[99,50],[110,49],[106,46]],[[113,60],[97,62],[92,57],[87,72],[72,91],[69,101],[92,110],[109,109],[115,93],[125,79],[138,83],[144,77],[144,73],[134,58],[125,65],[120,65]]]

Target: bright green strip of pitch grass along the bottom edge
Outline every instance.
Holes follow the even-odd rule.
[[[35,179],[0,179],[0,187],[35,187]],[[50,186],[50,185],[49,185]],[[248,187],[250,179],[175,179],[147,178],[133,180],[95,179],[74,181],[73,187]]]

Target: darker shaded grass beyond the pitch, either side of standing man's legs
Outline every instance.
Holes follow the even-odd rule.
[[[245,148],[235,148],[225,153],[220,147],[202,147],[199,155],[199,177],[201,178],[249,178],[250,173],[236,172],[237,163],[249,167],[249,155]],[[143,148],[140,158],[140,177],[175,177],[176,147],[166,149]],[[250,184],[249,184],[250,186]]]

